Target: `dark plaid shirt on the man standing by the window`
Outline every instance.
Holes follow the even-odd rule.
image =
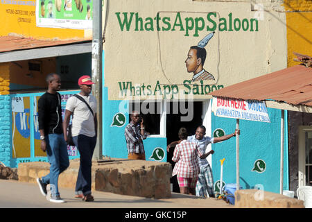
[[[132,122],[125,127],[125,142],[127,143],[128,153],[145,153],[143,139],[146,139],[147,135],[142,136],[140,130],[141,126],[139,124],[135,126]]]

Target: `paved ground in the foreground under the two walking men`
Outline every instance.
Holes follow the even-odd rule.
[[[72,189],[60,188],[67,203],[51,203],[37,185],[16,180],[0,180],[0,208],[234,208],[223,200],[173,193],[168,199],[152,199],[94,191],[94,202],[73,198]]]

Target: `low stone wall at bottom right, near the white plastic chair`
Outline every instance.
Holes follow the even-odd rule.
[[[258,189],[241,189],[235,192],[235,207],[239,208],[304,208],[302,200],[289,198]]]

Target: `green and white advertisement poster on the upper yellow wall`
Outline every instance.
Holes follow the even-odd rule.
[[[49,28],[92,28],[92,0],[38,0],[36,24]]]

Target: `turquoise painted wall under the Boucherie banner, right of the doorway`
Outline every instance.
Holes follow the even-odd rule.
[[[271,123],[240,120],[240,185],[243,189],[252,189],[255,185],[263,185],[265,191],[279,193],[280,143],[281,143],[281,110],[268,108]],[[287,114],[285,114],[287,117]],[[285,120],[287,122],[287,120]],[[220,118],[212,114],[212,132],[223,128],[225,134],[234,133],[236,119]],[[287,129],[287,124],[285,124]],[[285,130],[286,131],[286,130]],[[285,132],[287,137],[287,132]],[[284,189],[288,189],[288,143],[284,141]],[[223,164],[223,181],[226,184],[236,183],[236,138],[212,144],[215,151],[212,156],[214,182],[220,180],[220,160]],[[266,162],[266,171],[252,171],[258,159]]]

